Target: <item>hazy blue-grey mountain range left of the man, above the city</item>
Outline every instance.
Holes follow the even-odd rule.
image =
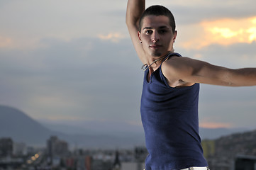
[[[11,137],[14,142],[25,142],[27,145],[43,146],[50,136],[56,135],[60,140],[65,140],[71,147],[133,147],[143,144],[143,137],[138,135],[113,134],[67,134],[46,128],[45,125],[30,118],[26,113],[9,106],[0,106],[0,137]]]

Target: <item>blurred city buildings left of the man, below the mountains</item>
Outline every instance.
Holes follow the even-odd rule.
[[[145,147],[133,149],[78,149],[51,136],[45,147],[27,147],[10,137],[0,139],[0,169],[10,170],[141,170]]]

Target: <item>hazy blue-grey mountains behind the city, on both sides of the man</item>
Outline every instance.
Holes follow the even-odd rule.
[[[104,122],[80,122],[76,125],[33,120],[16,108],[0,106],[0,137],[11,137],[14,142],[45,146],[52,135],[77,147],[133,147],[145,145],[143,128],[135,125]],[[201,139],[244,132],[243,129],[200,128]]]

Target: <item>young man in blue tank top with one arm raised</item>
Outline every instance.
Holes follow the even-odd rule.
[[[128,0],[126,24],[145,71],[145,169],[208,169],[199,137],[199,84],[255,86],[256,69],[228,69],[174,53],[175,21],[164,6],[145,10],[145,0]]]

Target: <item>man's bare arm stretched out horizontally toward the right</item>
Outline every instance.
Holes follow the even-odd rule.
[[[169,85],[213,84],[220,86],[256,86],[256,68],[228,69],[188,57],[173,57],[162,66]]]

